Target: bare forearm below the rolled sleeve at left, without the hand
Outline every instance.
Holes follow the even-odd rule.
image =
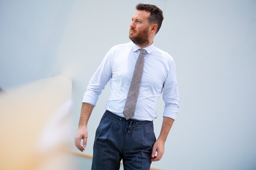
[[[78,128],[87,126],[94,106],[88,103],[83,103],[81,108],[80,120]]]

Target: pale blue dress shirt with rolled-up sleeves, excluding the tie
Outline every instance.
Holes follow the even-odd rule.
[[[113,46],[105,55],[84,93],[83,103],[96,105],[101,91],[110,79],[110,95],[106,110],[124,117],[123,109],[130,88],[140,47],[133,42]],[[179,94],[173,58],[154,46],[144,48],[144,68],[140,90],[132,119],[153,121],[157,118],[156,104],[163,92],[163,116],[176,119]]]

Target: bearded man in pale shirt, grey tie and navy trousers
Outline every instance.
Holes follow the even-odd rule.
[[[80,151],[84,150],[81,139],[86,146],[93,107],[111,79],[106,112],[96,130],[92,169],[118,170],[123,159],[125,170],[148,170],[152,161],[163,156],[165,140],[178,115],[179,95],[173,58],[153,44],[162,21],[158,7],[138,4],[130,24],[132,42],[112,47],[90,80],[75,135]],[[165,110],[156,140],[152,121],[157,118],[156,103],[162,92]]]

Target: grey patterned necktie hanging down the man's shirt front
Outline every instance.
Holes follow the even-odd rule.
[[[126,102],[124,105],[124,117],[126,120],[130,119],[134,116],[136,103],[139,95],[140,90],[140,82],[144,67],[144,55],[147,51],[145,49],[140,49],[140,55],[137,58],[133,76],[132,76],[132,82],[130,84],[130,88],[127,94]]]

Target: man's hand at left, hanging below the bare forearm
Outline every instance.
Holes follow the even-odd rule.
[[[83,146],[87,144],[87,127],[78,128],[75,135],[75,145],[81,152],[84,150]],[[81,139],[83,139],[83,146],[81,146]]]

